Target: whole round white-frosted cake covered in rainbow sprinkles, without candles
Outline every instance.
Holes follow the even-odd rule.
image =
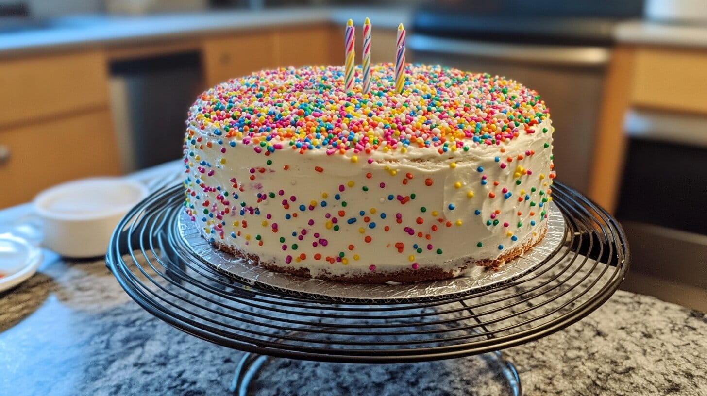
[[[187,214],[276,272],[382,283],[497,269],[544,237],[549,110],[520,83],[441,66],[259,71],[189,110]],[[361,75],[361,69],[358,69]],[[360,81],[358,83],[360,86]]]

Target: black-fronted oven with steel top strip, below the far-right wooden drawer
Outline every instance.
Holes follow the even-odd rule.
[[[691,294],[707,298],[706,125],[706,116],[629,112],[616,215],[631,245],[631,272],[644,284],[656,279],[676,285],[672,294],[701,289]]]

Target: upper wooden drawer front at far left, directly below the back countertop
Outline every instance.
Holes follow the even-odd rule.
[[[107,71],[100,52],[1,61],[0,87],[0,126],[42,122],[45,117],[108,103]]]

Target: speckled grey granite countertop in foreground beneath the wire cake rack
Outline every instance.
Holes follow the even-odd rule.
[[[707,395],[707,318],[618,291],[588,318],[505,351],[525,395]],[[0,395],[230,395],[241,353],[131,301],[103,260],[47,254],[0,294]],[[481,357],[392,366],[273,359],[255,395],[498,395]]]

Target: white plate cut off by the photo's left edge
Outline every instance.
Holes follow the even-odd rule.
[[[0,234],[0,292],[30,278],[42,263],[42,250],[11,233]]]

